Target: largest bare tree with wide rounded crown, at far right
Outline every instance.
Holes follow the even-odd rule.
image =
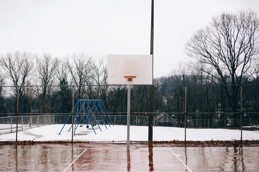
[[[185,45],[185,53],[211,66],[210,73],[224,84],[233,118],[237,118],[240,84],[248,72],[252,58],[259,53],[259,21],[253,11],[237,14],[222,13],[200,29]],[[230,83],[225,75],[230,76]],[[231,88],[227,86],[231,84]],[[234,126],[238,126],[234,121]]]

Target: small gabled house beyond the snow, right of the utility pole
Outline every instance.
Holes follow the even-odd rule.
[[[153,125],[162,127],[176,127],[177,122],[166,113],[162,113],[156,115]]]

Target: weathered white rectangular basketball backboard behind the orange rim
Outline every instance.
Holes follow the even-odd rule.
[[[108,84],[127,84],[124,76],[137,76],[134,84],[153,84],[152,55],[108,55]]]

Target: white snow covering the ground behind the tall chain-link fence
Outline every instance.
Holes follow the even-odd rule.
[[[36,128],[31,128],[18,132],[18,140],[34,140],[34,141],[70,141],[72,137],[71,131],[68,129],[71,124],[66,124],[59,135],[63,124],[46,125]],[[76,129],[74,141],[89,141],[89,142],[112,142],[112,141],[126,141],[127,140],[127,126],[114,125],[108,129],[105,126],[95,126],[96,134],[93,132],[91,126],[86,128],[86,125]],[[192,141],[208,141],[208,140],[240,140],[240,130],[229,129],[186,129],[186,140]],[[0,135],[0,141],[15,141],[16,133],[8,133]],[[148,127],[147,126],[130,126],[130,141],[147,141]],[[184,128],[177,127],[153,127],[154,141],[173,141],[184,140]],[[259,130],[244,131],[243,140],[259,140]]]

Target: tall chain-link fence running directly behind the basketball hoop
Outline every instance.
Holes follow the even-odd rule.
[[[153,85],[153,112],[149,87],[131,89],[131,141],[148,141],[149,114],[154,141],[259,140],[259,85]],[[0,141],[126,141],[126,125],[126,85],[0,89]]]

